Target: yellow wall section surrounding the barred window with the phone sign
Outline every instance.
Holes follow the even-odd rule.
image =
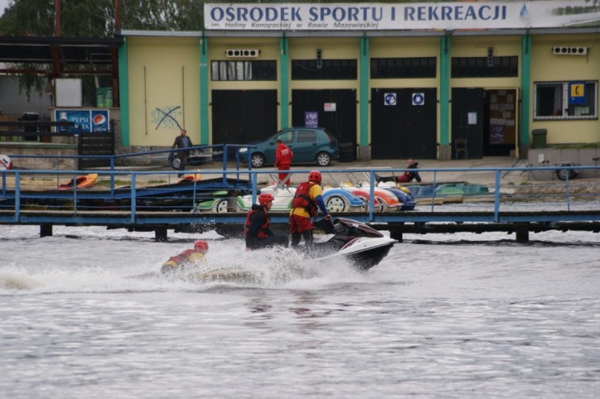
[[[600,80],[600,47],[594,35],[540,35],[532,38],[531,54],[531,124],[533,129],[546,129],[546,141],[551,144],[600,142],[600,123],[593,120],[534,121],[534,82]],[[587,56],[552,54],[552,47],[587,47]],[[596,87],[600,91],[600,86]],[[596,92],[596,109],[598,109]]]

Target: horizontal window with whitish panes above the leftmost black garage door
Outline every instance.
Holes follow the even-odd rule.
[[[212,80],[277,80],[277,61],[213,61]]]

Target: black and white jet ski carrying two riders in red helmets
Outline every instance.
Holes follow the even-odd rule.
[[[314,245],[315,253],[318,255],[316,261],[345,257],[349,259],[352,266],[361,271],[379,264],[398,242],[353,219],[337,218],[333,221],[322,219],[316,221],[314,225],[327,234],[325,242]]]

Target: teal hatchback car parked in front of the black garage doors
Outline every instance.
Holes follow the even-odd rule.
[[[277,140],[281,139],[294,152],[293,164],[328,166],[339,159],[337,139],[325,128],[285,128],[261,142],[251,142],[239,149],[239,159],[253,168],[275,164]],[[253,147],[250,147],[253,146]]]

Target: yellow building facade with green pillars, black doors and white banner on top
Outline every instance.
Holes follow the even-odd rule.
[[[121,144],[244,144],[308,115],[358,159],[600,142],[600,11],[527,4],[208,4],[204,32],[123,31]]]

